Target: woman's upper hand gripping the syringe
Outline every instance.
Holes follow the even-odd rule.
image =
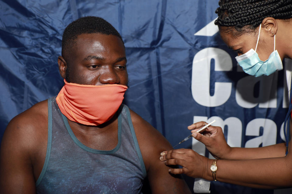
[[[216,159],[227,159],[231,153],[231,147],[227,144],[221,127],[208,126],[203,132],[197,133],[207,123],[204,121],[188,126],[192,130],[192,136],[205,144],[206,148]]]

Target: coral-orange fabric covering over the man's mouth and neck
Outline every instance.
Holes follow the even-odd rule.
[[[109,121],[124,99],[126,86],[101,86],[68,83],[56,97],[61,112],[70,120],[85,125],[100,125]]]

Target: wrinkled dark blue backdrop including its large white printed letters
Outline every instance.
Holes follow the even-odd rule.
[[[172,145],[190,134],[189,124],[214,119],[231,146],[282,142],[290,71],[245,74],[214,25],[217,7],[218,0],[1,0],[0,139],[14,116],[57,95],[64,84],[57,65],[64,28],[93,15],[125,42],[130,88],[124,103]],[[196,140],[178,148],[209,156]],[[185,178],[192,189],[193,179]],[[211,182],[211,193],[273,191]]]

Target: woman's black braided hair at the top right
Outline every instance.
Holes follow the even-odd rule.
[[[266,17],[292,18],[292,0],[220,0],[219,6],[215,25],[220,30],[222,26],[232,26],[236,35],[255,30]]]

